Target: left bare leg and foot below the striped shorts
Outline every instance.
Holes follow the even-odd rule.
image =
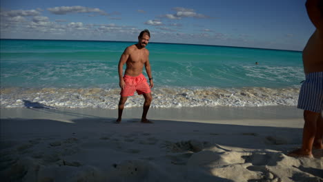
[[[288,154],[288,156],[304,156],[313,157],[312,148],[315,139],[317,128],[317,119],[320,113],[304,110],[304,129],[302,148],[294,150]]]

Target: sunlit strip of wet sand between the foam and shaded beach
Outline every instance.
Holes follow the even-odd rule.
[[[0,108],[1,119],[81,119],[101,118],[107,121],[117,119],[117,109],[102,108]],[[123,120],[140,119],[142,108],[124,108]],[[183,107],[183,108],[150,108],[148,119],[192,121],[202,123],[219,123],[219,121],[246,120],[295,120],[297,128],[302,128],[302,110],[296,106],[261,106],[261,107]],[[243,122],[239,122],[244,125]],[[275,123],[275,122],[273,122]],[[255,123],[257,124],[257,123]],[[286,126],[286,125],[285,125]]]

